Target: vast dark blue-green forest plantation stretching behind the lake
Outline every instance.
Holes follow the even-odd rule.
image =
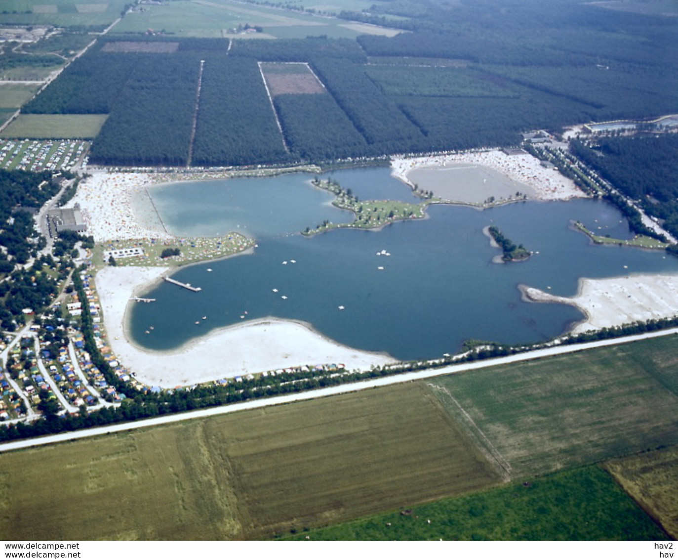
[[[22,110],[108,114],[94,163],[185,165],[204,60],[196,166],[504,146],[534,128],[678,112],[675,18],[572,0],[397,0],[342,17],[403,33],[124,36],[178,45],[163,53],[108,52],[120,39],[101,38]],[[329,98],[275,98],[274,113],[257,62],[306,62]]]

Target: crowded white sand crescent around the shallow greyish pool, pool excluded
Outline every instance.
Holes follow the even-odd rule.
[[[391,162],[391,174],[414,187],[407,178],[407,174],[420,168],[445,168],[459,163],[468,163],[477,166],[489,167],[500,172],[511,180],[521,182],[536,192],[536,198],[541,200],[568,200],[584,197],[570,178],[561,175],[555,169],[542,167],[539,159],[529,153],[521,155],[506,155],[500,150],[459,153],[455,155],[431,155],[427,157],[394,157]],[[422,190],[433,190],[435,187],[419,185]]]

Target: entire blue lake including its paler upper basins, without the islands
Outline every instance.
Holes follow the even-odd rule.
[[[572,220],[580,220],[599,234],[631,238],[620,212],[592,199],[482,211],[437,205],[428,208],[428,219],[381,231],[338,229],[303,237],[298,231],[325,219],[352,218],[334,208],[332,195],[313,187],[311,178],[287,174],[154,188],[151,195],[170,232],[236,230],[256,237],[258,246],[254,254],[172,275],[201,287],[198,293],[163,282],[144,294],[157,301],[131,307],[128,328],[135,343],[174,349],[215,328],[273,316],[307,322],[357,349],[401,360],[435,358],[458,351],[467,339],[544,341],[582,320],[574,307],[522,301],[519,284],[571,296],[580,277],[678,272],[678,258],[663,251],[595,246],[574,230]],[[341,170],[332,178],[363,200],[416,200],[388,168]],[[488,225],[532,250],[532,258],[493,263],[499,250],[483,235]]]

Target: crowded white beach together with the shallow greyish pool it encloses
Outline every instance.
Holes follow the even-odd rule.
[[[422,172],[424,170],[428,172]],[[471,173],[474,170],[475,177]],[[542,167],[539,159],[529,153],[506,155],[503,151],[491,150],[399,156],[391,162],[391,174],[411,187],[416,182],[420,190],[433,191],[436,196],[462,204],[482,204],[490,196],[508,199],[516,191],[540,200],[585,197],[570,178],[553,168]],[[445,178],[441,178],[443,176]]]

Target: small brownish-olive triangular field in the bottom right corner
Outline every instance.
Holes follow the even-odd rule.
[[[678,537],[678,447],[612,460],[605,468],[673,539]]]

